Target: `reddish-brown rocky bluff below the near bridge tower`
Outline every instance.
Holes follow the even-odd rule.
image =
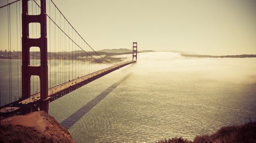
[[[0,143],[75,143],[68,130],[45,111],[0,122]]]

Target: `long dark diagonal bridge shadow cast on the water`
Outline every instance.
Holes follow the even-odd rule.
[[[104,90],[101,94],[96,96],[89,103],[85,104],[82,108],[78,109],[75,113],[69,116],[67,119],[62,121],[60,124],[67,130],[72,127],[78,120],[80,120],[87,112],[89,112],[95,105],[97,105],[103,98],[105,98],[110,92],[112,92],[118,85],[120,85],[126,78],[128,78],[131,73],[125,75],[123,78],[118,80],[116,83],[111,85],[109,88]]]

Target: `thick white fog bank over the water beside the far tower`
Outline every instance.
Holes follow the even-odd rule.
[[[179,53],[139,53],[132,70],[138,74],[198,75],[215,80],[256,81],[256,58],[194,58]]]

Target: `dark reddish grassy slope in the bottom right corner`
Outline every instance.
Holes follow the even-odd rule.
[[[256,121],[224,126],[212,135],[198,135],[193,141],[176,137],[155,143],[256,143]]]

